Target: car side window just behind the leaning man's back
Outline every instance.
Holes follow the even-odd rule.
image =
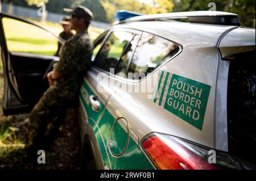
[[[126,31],[112,32],[98,52],[93,65],[106,71],[115,68],[119,60],[125,58],[125,55],[130,52],[130,41],[133,40],[133,37],[134,33]]]

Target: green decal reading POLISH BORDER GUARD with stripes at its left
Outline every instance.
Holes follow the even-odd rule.
[[[210,86],[179,75],[162,71],[158,87],[163,87],[156,94],[156,104],[174,113],[197,129],[203,129],[205,110],[210,93]]]

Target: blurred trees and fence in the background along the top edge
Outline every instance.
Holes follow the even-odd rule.
[[[255,27],[255,0],[2,0],[4,3],[36,9],[39,2],[46,3],[49,12],[63,14],[63,8],[77,5],[93,11],[95,20],[114,22],[117,10],[130,10],[142,14],[157,14],[179,11],[209,10],[210,2],[216,3],[217,11],[228,11],[239,15],[242,26]]]

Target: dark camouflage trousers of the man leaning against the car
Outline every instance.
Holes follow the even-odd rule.
[[[28,145],[41,146],[43,149],[52,144],[55,136],[53,134],[59,131],[71,102],[75,101],[68,100],[67,96],[61,95],[54,86],[49,87],[30,113],[31,131]]]

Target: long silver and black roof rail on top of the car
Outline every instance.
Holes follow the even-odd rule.
[[[138,15],[136,12],[134,13],[136,14],[134,17],[127,17],[127,19],[122,19],[116,24],[149,20],[188,19],[189,22],[191,23],[208,23],[240,26],[240,21],[238,20],[237,14],[222,11],[187,11],[152,15]]]

